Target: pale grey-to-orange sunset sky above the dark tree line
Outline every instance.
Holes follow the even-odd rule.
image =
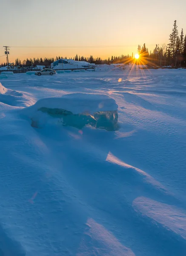
[[[168,43],[174,20],[186,32],[186,0],[0,0],[0,56],[108,58]],[[0,63],[6,57],[0,57]]]

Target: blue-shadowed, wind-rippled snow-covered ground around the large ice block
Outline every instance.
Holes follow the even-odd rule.
[[[186,70],[99,71],[0,78],[0,255],[186,254]],[[113,98],[119,129],[31,127],[67,93]]]

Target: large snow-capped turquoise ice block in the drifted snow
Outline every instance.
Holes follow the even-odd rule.
[[[104,94],[73,93],[61,98],[41,99],[24,109],[23,114],[29,116],[35,128],[61,124],[78,129],[86,125],[107,131],[117,129],[117,104]]]

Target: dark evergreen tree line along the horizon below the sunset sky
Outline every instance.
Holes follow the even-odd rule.
[[[181,29],[180,35],[178,35],[177,21],[174,21],[172,33],[169,35],[169,44],[162,44],[159,46],[155,45],[153,51],[149,52],[146,44],[143,47],[138,45],[137,52],[140,55],[139,60],[134,58],[132,55],[120,55],[113,56],[108,59],[102,59],[100,57],[94,58],[92,55],[89,57],[74,56],[69,57],[75,61],[87,61],[94,64],[114,64],[114,63],[136,63],[149,65],[149,66],[171,66],[171,67],[186,67],[186,35],[184,36],[183,29]],[[14,66],[20,67],[34,67],[36,65],[50,66],[51,63],[63,58],[63,56],[56,56],[55,58],[27,58],[26,60],[20,61],[17,58],[14,62]],[[67,59],[67,57],[64,57]],[[6,66],[6,63],[2,63],[1,66]]]

